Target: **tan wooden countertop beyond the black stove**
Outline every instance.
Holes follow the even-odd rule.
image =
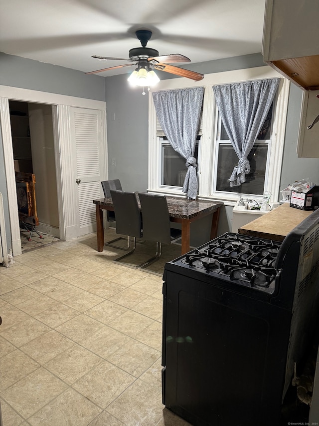
[[[283,241],[314,210],[300,210],[285,203],[238,229],[239,234]]]

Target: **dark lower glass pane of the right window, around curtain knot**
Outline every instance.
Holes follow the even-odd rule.
[[[241,186],[229,186],[233,168],[238,165],[238,157],[230,144],[221,143],[218,152],[217,191],[239,192],[243,194],[262,195],[264,193],[267,143],[255,143],[248,155],[250,173]]]

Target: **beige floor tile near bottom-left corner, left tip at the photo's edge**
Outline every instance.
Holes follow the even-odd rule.
[[[66,388],[65,383],[40,367],[3,391],[1,397],[27,419]]]

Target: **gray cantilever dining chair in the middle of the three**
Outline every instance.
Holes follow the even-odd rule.
[[[136,239],[142,237],[142,220],[136,193],[115,191],[112,189],[110,192],[116,216],[116,233],[127,235],[129,246],[128,253],[118,257],[114,260],[114,262],[129,266],[130,268],[138,269],[141,265],[132,265],[126,262],[121,262],[122,259],[135,251]],[[133,240],[133,246],[131,244],[131,238]]]

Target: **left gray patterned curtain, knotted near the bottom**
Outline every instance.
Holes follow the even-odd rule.
[[[196,199],[198,189],[194,152],[203,93],[204,87],[153,93],[156,114],[168,142],[186,159],[182,191],[192,199]]]

